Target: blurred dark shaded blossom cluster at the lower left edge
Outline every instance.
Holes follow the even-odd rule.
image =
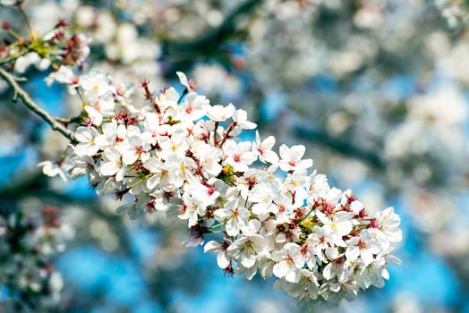
[[[64,283],[52,256],[65,249],[71,236],[72,229],[60,219],[56,207],[2,212],[0,285],[9,299],[31,308],[60,299]]]

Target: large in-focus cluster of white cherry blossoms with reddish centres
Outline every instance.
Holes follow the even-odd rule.
[[[371,215],[350,190],[328,185],[310,171],[301,145],[273,149],[276,139],[243,141],[257,125],[243,109],[211,105],[182,72],[180,94],[155,94],[141,83],[146,104],[106,73],[80,76],[61,67],[49,78],[82,100],[75,138],[58,163],[42,163],[50,176],[88,175],[99,194],[130,198],[117,209],[132,218],[177,211],[188,245],[205,243],[227,275],[275,276],[300,300],[352,299],[360,289],[382,287],[390,253],[401,241],[392,207]]]

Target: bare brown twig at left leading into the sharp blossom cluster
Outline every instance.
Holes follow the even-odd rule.
[[[62,123],[59,123],[57,119],[49,114],[46,110],[38,106],[30,97],[30,95],[21,88],[21,86],[18,84],[18,81],[21,81],[21,79],[18,79],[17,77],[13,76],[11,73],[4,71],[4,69],[0,68],[0,76],[4,79],[10,87],[13,89],[13,101],[16,101],[18,97],[21,98],[23,104],[30,109],[30,111],[34,112],[37,114],[39,117],[41,117],[46,123],[50,125],[52,130],[58,131],[61,134],[64,135],[68,140],[71,140],[72,142],[75,142],[75,136],[72,131],[68,130]]]

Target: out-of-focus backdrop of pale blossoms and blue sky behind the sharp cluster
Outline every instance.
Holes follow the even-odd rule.
[[[338,307],[297,305],[257,276],[252,282],[226,278],[215,266],[216,256],[182,244],[187,228],[180,221],[159,213],[130,221],[115,214],[115,200],[98,199],[86,178],[64,183],[40,173],[38,162],[57,158],[66,140],[36,117],[25,118],[29,113],[12,105],[0,81],[0,213],[6,207],[25,212],[0,218],[0,236],[13,223],[30,232],[34,244],[40,242],[30,260],[40,270],[13,283],[47,294],[44,308],[469,312],[466,1],[26,4],[38,33],[64,18],[87,34],[89,67],[105,69],[115,81],[147,78],[152,89],[163,89],[177,81],[176,71],[186,72],[212,103],[233,102],[246,110],[264,137],[305,145],[314,167],[332,185],[352,188],[368,210],[396,207],[405,238],[397,251],[403,265],[390,268],[386,287]],[[8,7],[0,8],[0,20],[21,25],[21,16]],[[25,71],[32,77],[26,88],[41,106],[58,115],[81,110],[60,86],[46,86],[45,72]],[[134,97],[143,99],[140,92]],[[55,216],[63,227],[44,240],[41,225]],[[2,256],[8,254],[0,260],[2,275],[20,270],[15,252],[4,254],[9,249],[0,242]],[[54,260],[50,250],[58,252]],[[40,283],[45,277],[50,285]],[[6,294],[4,287],[0,311],[13,311]]]

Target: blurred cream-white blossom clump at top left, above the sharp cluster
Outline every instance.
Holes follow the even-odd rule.
[[[155,82],[161,74],[158,64],[161,48],[152,36],[155,27],[134,21],[127,5],[124,21],[107,5],[90,2],[31,0],[25,10],[38,32],[50,30],[54,21],[65,19],[70,29],[90,38],[91,50],[99,53],[90,55],[87,64],[106,70],[122,82],[139,80],[142,76],[152,77]]]

